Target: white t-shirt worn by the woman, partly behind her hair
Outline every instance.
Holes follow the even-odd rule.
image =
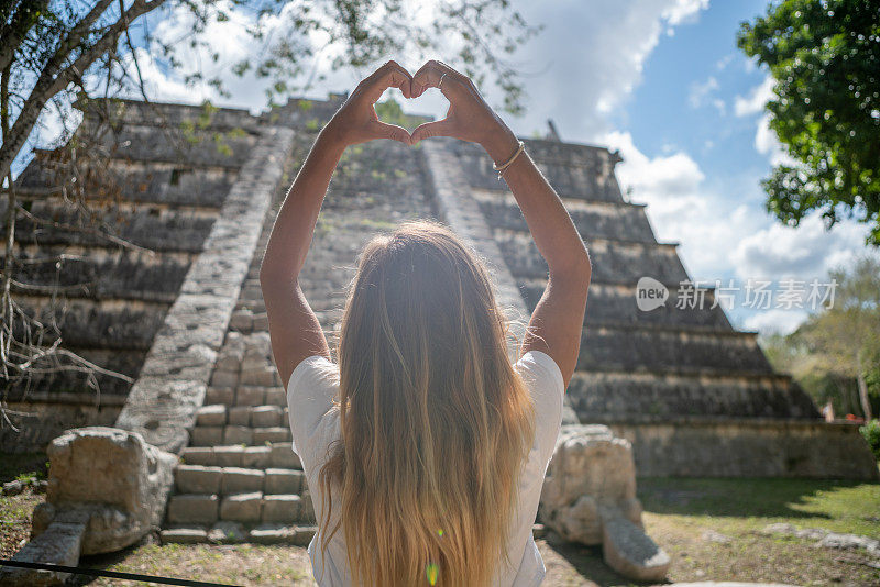
[[[508,555],[516,567],[504,565],[499,568],[494,585],[501,587],[526,587],[540,585],[547,571],[535,545],[531,525],[538,512],[538,501],[553,454],[557,436],[562,423],[562,398],[564,383],[557,363],[546,353],[529,351],[517,362],[516,368],[522,375],[535,402],[536,434],[535,444],[528,454],[528,462],[519,483],[520,510],[510,535]],[[294,369],[287,384],[287,406],[290,412],[293,448],[302,462],[306,480],[311,489],[315,513],[321,520],[323,502],[318,472],[327,458],[331,442],[340,438],[339,409],[333,407],[333,398],[339,394],[339,367],[326,357],[315,355],[304,359]],[[336,524],[340,508],[337,494],[333,494],[333,519]],[[324,574],[321,575],[321,529],[309,543],[315,580],[322,587],[346,587],[351,585],[348,568],[345,542],[342,531],[338,531],[328,545]]]

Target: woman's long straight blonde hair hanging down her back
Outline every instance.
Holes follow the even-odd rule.
[[[482,587],[506,560],[535,434],[507,332],[449,229],[411,221],[365,245],[339,337],[341,439],[319,474],[321,549],[341,524],[355,585]]]

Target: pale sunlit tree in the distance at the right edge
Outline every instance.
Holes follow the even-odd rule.
[[[866,420],[870,420],[871,389],[880,370],[880,261],[866,256],[850,272],[831,273],[837,283],[834,304],[812,317],[790,335],[812,375],[854,380]]]

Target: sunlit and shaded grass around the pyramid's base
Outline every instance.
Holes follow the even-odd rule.
[[[13,473],[4,474],[9,479],[29,472],[20,469]],[[30,529],[30,509],[42,496],[29,497],[29,492],[2,498],[4,521],[28,522]],[[641,478],[638,492],[645,507],[644,522],[648,534],[672,558],[669,574],[672,582],[880,585],[880,569],[871,566],[878,561],[861,551],[816,547],[811,540],[762,532],[768,524],[785,522],[799,528],[821,528],[880,539],[878,484]],[[631,584],[604,564],[601,546],[560,543],[552,539],[552,534],[536,542],[548,571],[544,585]],[[4,551],[4,556],[8,554],[11,553]],[[146,543],[119,553],[84,557],[80,565],[229,585],[315,585],[308,553],[306,549],[296,546],[160,546]],[[80,585],[100,586],[144,585],[103,578],[89,580],[86,577],[80,582]]]

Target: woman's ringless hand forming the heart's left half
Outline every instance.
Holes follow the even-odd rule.
[[[358,84],[321,134],[343,148],[374,139],[392,139],[409,145],[409,131],[380,121],[375,103],[388,88],[399,88],[405,98],[410,98],[411,81],[409,71],[395,62],[386,63]]]

